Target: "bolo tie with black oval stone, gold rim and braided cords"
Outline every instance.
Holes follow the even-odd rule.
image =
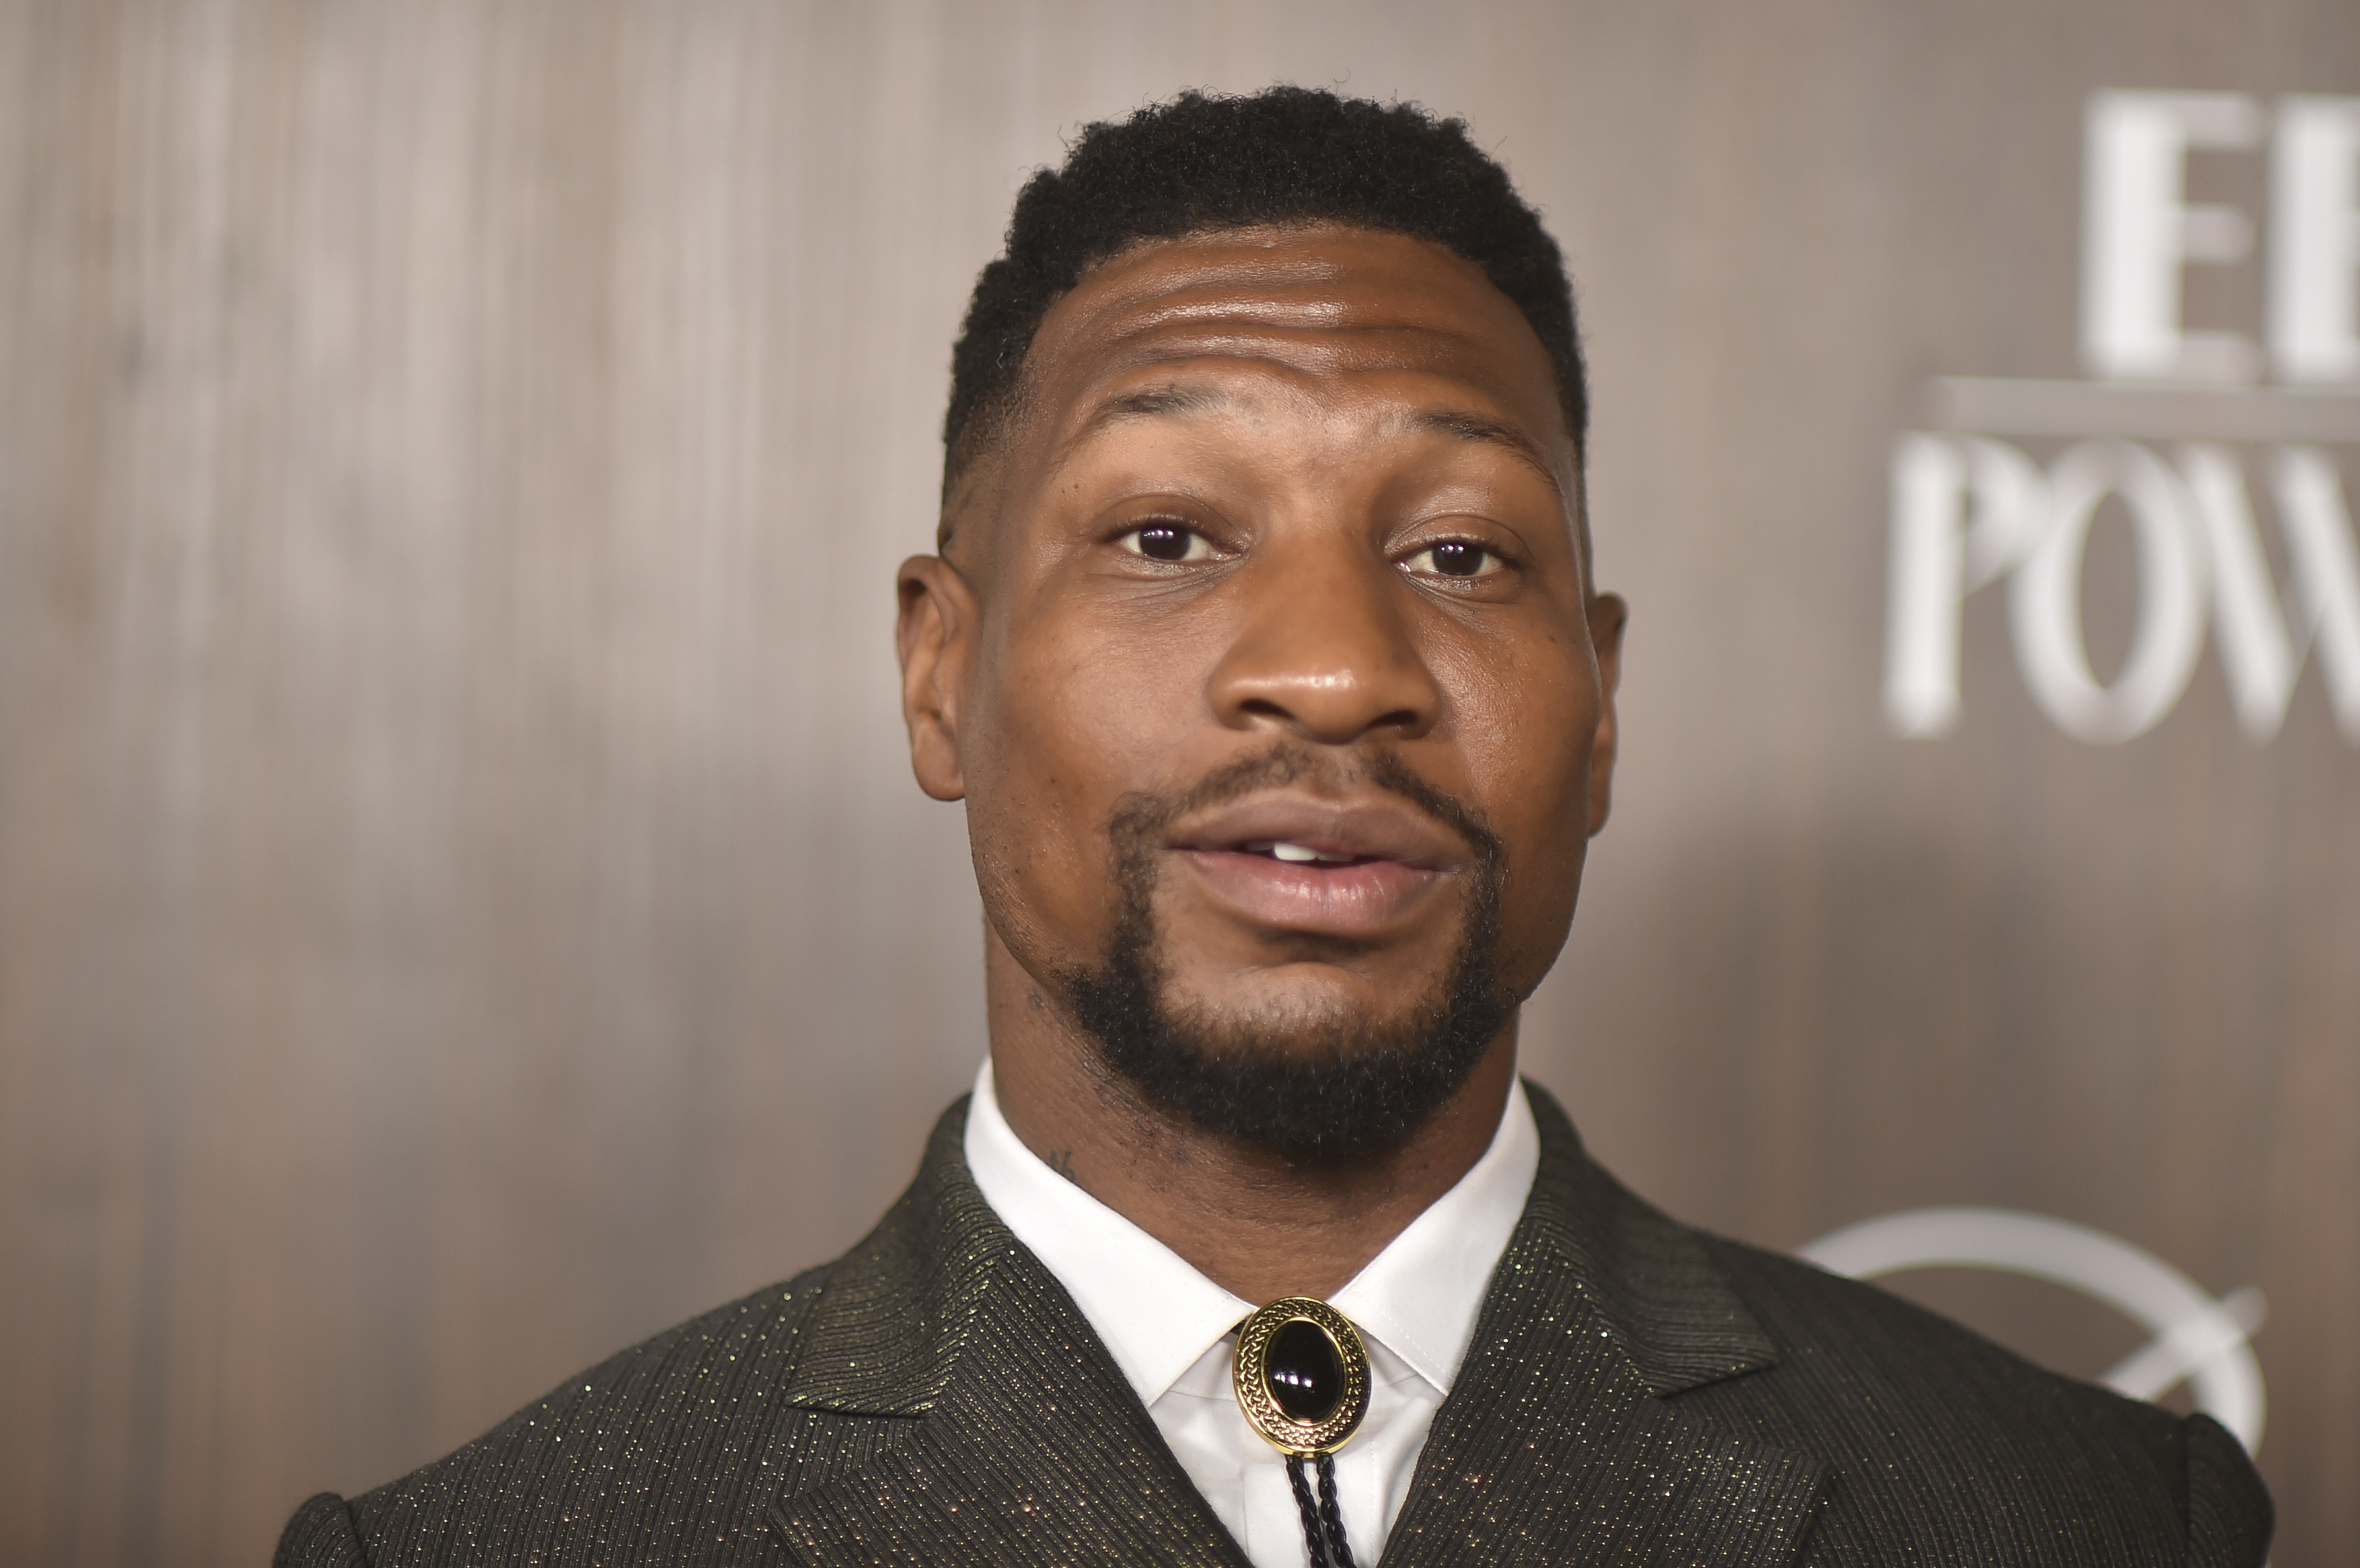
[[[1369,1349],[1340,1311],[1317,1297],[1279,1297],[1237,1325],[1230,1365],[1246,1424],[1286,1455],[1310,1568],[1355,1568],[1336,1509],[1336,1450],[1369,1415]],[[1319,1497],[1305,1469],[1319,1476]]]

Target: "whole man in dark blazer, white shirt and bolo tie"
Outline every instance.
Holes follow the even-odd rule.
[[[1683,1228],[1515,1078],[1607,816],[1558,248],[1463,127],[1093,127],[902,566],[991,1061],[835,1264],[281,1563],[2259,1563],[2235,1438]]]

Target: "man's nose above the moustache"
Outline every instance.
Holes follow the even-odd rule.
[[[1230,729],[1284,726],[1348,745],[1374,731],[1414,740],[1442,717],[1409,589],[1366,547],[1305,542],[1239,573],[1234,592],[1246,594],[1246,613],[1208,693]]]

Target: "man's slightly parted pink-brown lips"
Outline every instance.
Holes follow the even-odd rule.
[[[1175,823],[1173,849],[1237,915],[1343,938],[1399,924],[1466,863],[1451,832],[1388,797],[1251,797]]]

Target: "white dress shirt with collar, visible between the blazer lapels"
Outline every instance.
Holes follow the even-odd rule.
[[[1050,1170],[1001,1115],[991,1061],[975,1075],[968,1167],[984,1200],[1031,1247],[1114,1353],[1256,1568],[1303,1568],[1303,1516],[1286,1460],[1230,1391],[1241,1302],[1178,1252]],[[1369,1259],[1329,1302],[1369,1344],[1369,1415],[1336,1455],[1336,1502],[1352,1556],[1374,1563],[1409,1495],[1435,1408],[1451,1391],[1492,1269],[1541,1162],[1525,1087],[1508,1094],[1492,1148]]]

